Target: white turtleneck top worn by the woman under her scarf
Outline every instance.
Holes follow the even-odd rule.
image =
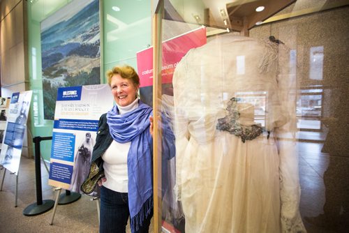
[[[138,107],[138,98],[126,107],[117,105],[120,114],[131,112]],[[109,188],[119,193],[128,193],[128,172],[127,155],[131,142],[119,143],[115,140],[103,154],[103,168],[107,181],[103,183],[105,188]]]

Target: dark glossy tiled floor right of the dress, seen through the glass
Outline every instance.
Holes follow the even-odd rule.
[[[322,144],[318,143],[299,142],[297,149],[302,188],[300,211],[306,229],[314,233],[349,232],[349,157],[321,153]],[[331,206],[327,217],[333,219],[313,218],[324,214],[325,203]]]

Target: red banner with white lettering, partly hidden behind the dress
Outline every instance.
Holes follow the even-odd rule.
[[[194,31],[189,31],[180,36],[163,41],[163,67],[162,83],[171,83],[174,68],[181,58],[194,47],[205,45],[206,28],[201,27]],[[140,87],[153,85],[153,47],[137,53],[138,75],[140,76]]]

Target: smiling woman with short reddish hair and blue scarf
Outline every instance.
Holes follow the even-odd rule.
[[[148,232],[153,216],[152,109],[138,98],[140,78],[131,66],[107,72],[116,105],[98,123],[91,162],[104,171],[100,232]]]

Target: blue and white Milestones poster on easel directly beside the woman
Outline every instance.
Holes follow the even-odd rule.
[[[89,174],[98,120],[114,98],[108,84],[60,87],[57,91],[49,185],[81,193]]]

